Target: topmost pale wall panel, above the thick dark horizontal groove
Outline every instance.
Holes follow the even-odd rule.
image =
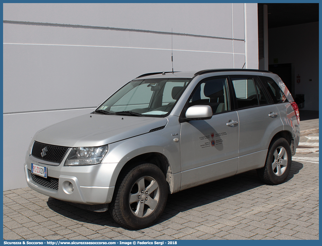
[[[231,4],[4,4],[4,20],[232,37]]]

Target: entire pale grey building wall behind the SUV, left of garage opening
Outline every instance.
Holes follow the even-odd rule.
[[[172,39],[175,71],[258,68],[257,4],[4,4],[3,14],[4,190],[26,187],[36,131],[171,71]]]

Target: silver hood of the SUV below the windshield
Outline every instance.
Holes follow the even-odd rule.
[[[34,140],[66,147],[101,146],[148,133],[167,122],[166,118],[86,114],[43,128]]]

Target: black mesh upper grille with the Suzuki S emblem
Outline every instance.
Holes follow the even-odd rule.
[[[43,150],[46,148],[47,151]],[[39,159],[51,162],[62,162],[62,158],[64,157],[68,147],[54,146],[49,144],[41,144],[38,142],[33,143],[33,150],[31,154]],[[42,154],[46,154],[43,155]]]

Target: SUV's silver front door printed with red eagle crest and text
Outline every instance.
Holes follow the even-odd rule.
[[[232,176],[238,166],[238,115],[231,111],[227,78],[202,80],[188,104],[211,106],[213,117],[181,123],[181,190]]]

